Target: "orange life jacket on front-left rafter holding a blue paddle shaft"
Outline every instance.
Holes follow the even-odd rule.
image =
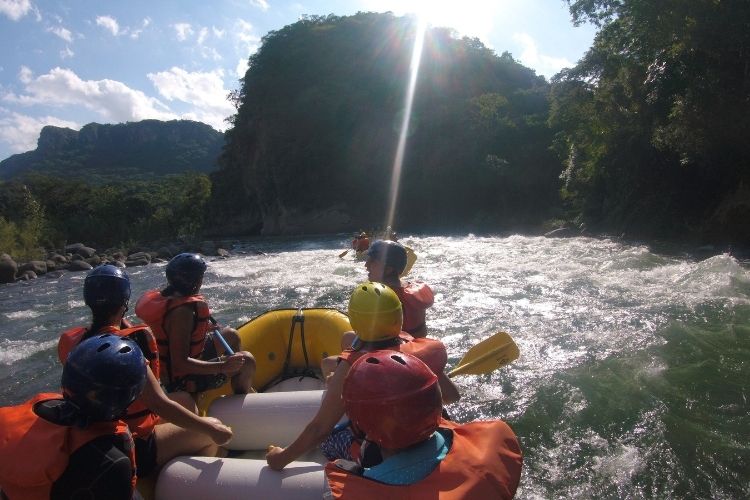
[[[206,334],[215,327],[211,324],[211,311],[202,295],[189,295],[187,297],[165,297],[159,290],[149,290],[144,293],[135,305],[135,313],[151,327],[159,347],[159,360],[166,370],[162,370],[162,382],[172,384],[176,382],[181,374],[175,374],[169,357],[169,338],[164,330],[164,320],[167,315],[176,308],[185,304],[192,304],[194,308],[193,331],[190,334],[191,358],[200,358],[203,352],[203,344]]]

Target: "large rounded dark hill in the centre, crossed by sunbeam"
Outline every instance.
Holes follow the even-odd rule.
[[[212,227],[236,234],[380,225],[416,23],[391,14],[308,17],[250,57]],[[558,206],[549,85],[509,54],[448,29],[425,36],[395,224],[521,227]]]

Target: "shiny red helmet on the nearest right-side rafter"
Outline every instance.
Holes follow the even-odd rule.
[[[375,351],[359,358],[344,380],[346,413],[367,439],[401,449],[424,441],[443,411],[437,376],[418,358]]]

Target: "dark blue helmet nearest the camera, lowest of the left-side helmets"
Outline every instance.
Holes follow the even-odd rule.
[[[63,366],[62,390],[90,421],[120,418],[146,385],[138,345],[105,333],[78,344]]]

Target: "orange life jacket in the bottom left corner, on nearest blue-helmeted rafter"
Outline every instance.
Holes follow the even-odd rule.
[[[59,394],[38,394],[18,406],[0,408],[0,487],[10,500],[48,500],[52,486],[68,467],[70,456],[89,441],[117,435],[125,442],[133,469],[135,450],[128,426],[122,421],[96,422],[85,429],[58,425],[36,413],[34,405]]]

